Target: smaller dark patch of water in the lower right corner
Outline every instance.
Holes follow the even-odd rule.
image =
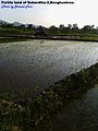
[[[98,131],[98,85],[57,116],[53,131]]]

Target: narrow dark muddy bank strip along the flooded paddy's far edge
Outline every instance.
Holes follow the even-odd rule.
[[[46,36],[34,36],[34,35],[9,35],[1,36],[0,41],[4,41],[5,39],[20,39],[20,40],[27,40],[27,39],[50,39],[50,40],[76,40],[76,41],[98,41],[97,36],[84,36],[84,35],[64,35],[64,36],[53,36],[53,35],[46,35]],[[7,40],[5,40],[7,41]]]

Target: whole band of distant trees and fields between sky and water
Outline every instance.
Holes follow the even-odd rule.
[[[95,25],[85,25],[79,28],[77,24],[60,24],[50,27],[36,26],[33,24],[10,24],[0,22],[0,43],[14,40],[26,40],[29,38],[39,39],[63,39],[63,40],[86,40],[98,41],[98,27]]]

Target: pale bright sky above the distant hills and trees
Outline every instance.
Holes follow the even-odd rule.
[[[1,4],[0,0],[0,4]],[[9,0],[3,0],[9,1]],[[13,1],[13,0],[12,0]],[[16,0],[15,0],[16,1]],[[23,0],[25,1],[25,0]],[[29,0],[33,1],[33,0]],[[34,0],[38,1],[38,0]],[[46,1],[46,0],[41,0]],[[59,1],[59,0],[52,0]],[[66,0],[61,0],[66,1]],[[68,0],[75,4],[37,4],[33,9],[1,9],[0,19],[7,22],[32,23],[36,25],[56,25],[77,23],[79,27],[84,25],[98,26],[98,0]]]

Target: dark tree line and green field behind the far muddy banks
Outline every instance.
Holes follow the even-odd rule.
[[[28,24],[25,26],[24,24],[14,26],[13,24],[0,24],[0,35],[5,34],[19,34],[19,35],[35,35],[35,36],[46,36],[46,35],[98,35],[98,27],[95,25],[85,25],[84,27],[79,28],[77,24],[61,24],[59,27],[54,25],[50,27],[44,26],[33,26]]]

